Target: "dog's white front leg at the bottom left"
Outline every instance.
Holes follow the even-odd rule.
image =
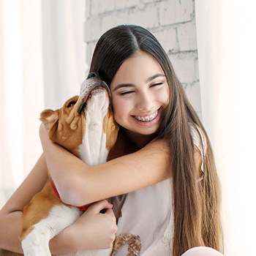
[[[31,232],[21,241],[24,255],[50,256],[50,239],[65,227],[72,225],[78,217],[80,217],[78,208],[64,205],[54,206],[48,217],[33,225]]]

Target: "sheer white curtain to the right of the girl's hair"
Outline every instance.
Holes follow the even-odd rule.
[[[254,1],[195,0],[203,124],[222,183],[225,255],[255,252]]]

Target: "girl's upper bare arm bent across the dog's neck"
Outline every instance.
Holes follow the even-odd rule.
[[[165,140],[156,140],[140,151],[101,165],[89,166],[52,143],[44,125],[40,127],[40,137],[50,175],[61,200],[67,204],[82,206],[148,187],[172,175],[170,147]]]

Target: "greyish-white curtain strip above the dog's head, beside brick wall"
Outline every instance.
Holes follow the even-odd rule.
[[[31,0],[33,1],[33,0]],[[60,108],[79,94],[86,77],[86,43],[83,24],[84,0],[42,2],[43,69],[46,108]]]

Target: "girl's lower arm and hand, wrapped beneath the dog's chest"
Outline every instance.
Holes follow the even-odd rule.
[[[45,185],[48,170],[42,155],[23,184],[0,211],[0,248],[23,253],[18,239],[23,207]],[[105,214],[100,214],[107,208]],[[77,222],[67,227],[50,241],[50,250],[59,255],[78,250],[109,248],[116,234],[116,218],[112,205],[101,200],[90,206]],[[80,239],[83,237],[83,239]]]

